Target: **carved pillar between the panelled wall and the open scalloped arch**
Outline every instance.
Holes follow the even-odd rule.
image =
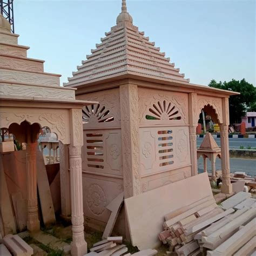
[[[198,112],[197,112],[197,93],[190,93],[188,95],[188,109],[190,120],[190,154],[191,154],[191,175],[198,174],[197,167],[197,125],[198,125]]]

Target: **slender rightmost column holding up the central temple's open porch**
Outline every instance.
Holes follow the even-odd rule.
[[[229,124],[228,98],[223,98],[222,105],[223,105],[223,124],[220,124],[221,173],[222,173],[221,192],[226,194],[231,194],[232,185],[230,181],[230,149],[228,145],[228,124]]]

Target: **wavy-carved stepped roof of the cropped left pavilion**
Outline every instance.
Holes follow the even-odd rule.
[[[44,72],[44,60],[27,57],[10,23],[0,14],[0,96],[75,101],[75,89],[60,86],[60,75]]]

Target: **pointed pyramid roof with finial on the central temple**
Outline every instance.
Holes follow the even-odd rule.
[[[165,53],[160,52],[160,48],[132,22],[126,2],[122,0],[117,25],[105,33],[102,43],[96,44],[96,49],[77,66],[77,71],[64,86],[75,87],[125,74],[189,83],[174,63],[170,63],[170,58],[166,58]]]

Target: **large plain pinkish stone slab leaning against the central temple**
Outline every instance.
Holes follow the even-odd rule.
[[[183,187],[183,190],[180,190],[180,187]],[[180,193],[177,194],[177,191],[180,191]],[[214,199],[210,181],[205,172],[158,187],[138,196],[126,198],[125,211],[132,245],[137,246],[139,250],[158,247],[160,240],[157,234],[163,231],[164,216],[171,211],[176,211],[208,196],[210,200],[213,200],[211,203],[213,204]],[[199,210],[195,209],[195,212]],[[193,212],[178,218],[177,221],[191,214]]]

